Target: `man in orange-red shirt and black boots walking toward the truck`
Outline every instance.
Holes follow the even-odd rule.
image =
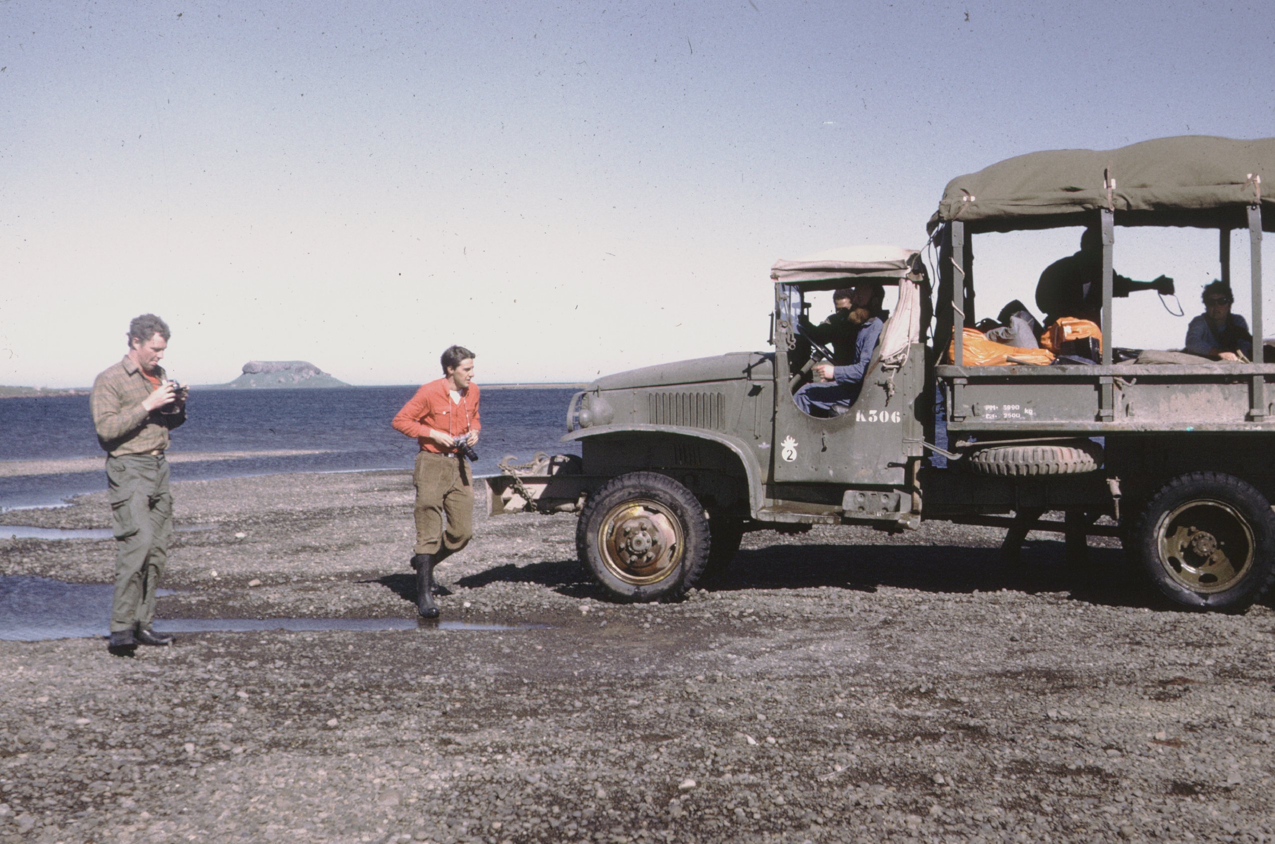
[[[474,488],[463,446],[478,442],[478,384],[474,353],[450,346],[442,353],[442,378],[423,384],[394,416],[394,430],[416,437],[416,569],[417,611],[439,615],[433,603],[433,566],[473,537]],[[472,460],[472,458],[470,458]],[[444,530],[446,514],[446,530]]]

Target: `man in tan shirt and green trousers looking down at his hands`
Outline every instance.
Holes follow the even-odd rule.
[[[185,390],[164,376],[159,362],[168,326],[153,313],[129,325],[129,353],[93,382],[89,406],[97,439],[106,451],[106,482],[115,527],[115,601],[111,653],[138,644],[172,644],[150,629],[156,588],[168,559],[172,495],[168,491],[168,432],[186,421]]]

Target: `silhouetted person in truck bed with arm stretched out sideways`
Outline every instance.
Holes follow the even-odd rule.
[[[1154,281],[1135,281],[1112,274],[1112,295],[1127,297],[1135,290],[1173,293],[1173,279],[1162,275]],[[1047,266],[1037,284],[1037,307],[1046,314],[1048,328],[1060,317],[1102,321],[1103,311],[1103,236],[1098,228],[1086,228],[1080,236],[1080,251]]]

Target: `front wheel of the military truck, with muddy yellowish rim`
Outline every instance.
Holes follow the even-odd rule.
[[[616,600],[672,600],[704,574],[709,519],[672,477],[629,472],[589,496],[575,544],[580,561]]]

